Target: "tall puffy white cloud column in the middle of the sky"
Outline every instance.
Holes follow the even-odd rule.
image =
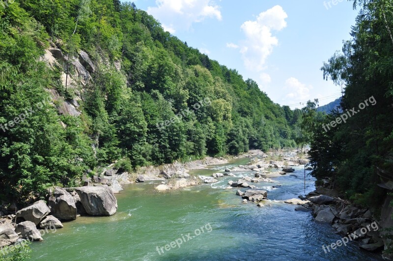
[[[240,53],[247,69],[262,71],[265,69],[266,58],[273,52],[273,47],[279,44],[273,31],[286,27],[288,15],[280,5],[276,5],[258,15],[255,21],[246,21],[240,27],[246,35],[242,42]]]

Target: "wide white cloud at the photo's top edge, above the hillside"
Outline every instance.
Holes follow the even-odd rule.
[[[169,32],[188,30],[205,18],[223,19],[220,6],[212,0],[156,0],[156,5],[148,7],[147,12],[163,25],[170,25],[166,27]]]

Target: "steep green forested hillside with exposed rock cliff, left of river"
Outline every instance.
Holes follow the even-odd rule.
[[[0,16],[1,197],[72,186],[114,162],[295,146],[299,110],[134,3],[9,0]]]

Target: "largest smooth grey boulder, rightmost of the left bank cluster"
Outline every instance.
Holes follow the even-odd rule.
[[[84,210],[89,215],[112,216],[117,210],[117,200],[110,187],[85,186],[75,189],[78,193]]]

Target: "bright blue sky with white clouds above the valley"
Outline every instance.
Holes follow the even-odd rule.
[[[350,40],[358,10],[346,0],[135,0],[164,29],[243,79],[276,103],[301,108],[340,97],[320,70]]]

